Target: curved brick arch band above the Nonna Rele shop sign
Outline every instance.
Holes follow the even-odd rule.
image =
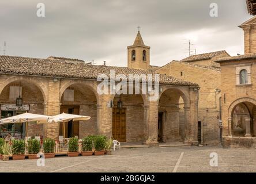
[[[44,85],[44,83],[42,81],[37,80],[36,78],[32,78],[32,77],[11,76],[10,78],[5,79],[5,81],[3,81],[1,83],[0,94],[2,93],[3,89],[5,89],[5,87],[7,85],[9,85],[12,82],[16,82],[16,81],[27,81],[27,82],[33,83],[33,85],[38,87],[38,89],[41,91],[41,93],[43,95],[44,103],[47,102],[48,90],[47,90],[46,85]]]

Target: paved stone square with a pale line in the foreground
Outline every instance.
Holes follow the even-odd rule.
[[[210,166],[210,154],[218,155],[218,167]],[[0,161],[0,172],[255,172],[255,149],[221,147],[150,147],[115,151],[112,155],[58,156],[37,160]]]

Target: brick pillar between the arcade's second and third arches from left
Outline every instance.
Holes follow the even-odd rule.
[[[100,95],[97,105],[97,132],[107,137],[112,136],[112,108],[107,107],[112,99],[112,95]]]

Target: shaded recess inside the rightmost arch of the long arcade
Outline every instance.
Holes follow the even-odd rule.
[[[164,86],[158,99],[159,141],[184,141],[190,88]]]

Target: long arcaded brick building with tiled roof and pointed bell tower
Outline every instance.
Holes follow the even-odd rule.
[[[160,74],[159,95],[155,100],[150,100],[151,93],[143,94],[142,91],[140,94],[98,93],[99,75],[110,76],[111,70],[116,75],[125,76],[158,74],[150,66],[149,51],[150,47],[145,46],[138,32],[134,44],[127,47],[128,67],[95,66],[63,57],[0,56],[1,118],[26,111],[47,115],[81,114],[91,116],[91,119],[65,122],[65,131],[62,123],[31,123],[28,135],[58,140],[59,135],[82,138],[101,134],[122,142],[182,141],[197,145],[197,83]],[[117,80],[115,84],[119,82]],[[142,81],[139,84],[143,85]],[[17,98],[22,98],[21,106],[16,105]],[[16,136],[24,136],[22,124],[1,125],[3,136],[13,130]]]

